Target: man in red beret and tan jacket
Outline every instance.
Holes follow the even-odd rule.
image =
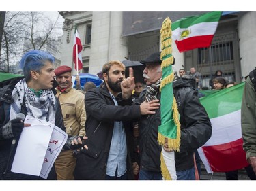
[[[66,133],[71,136],[85,135],[85,94],[72,88],[72,68],[66,65],[54,70],[58,82],[57,94],[61,103]],[[62,150],[55,161],[57,179],[74,179],[73,171],[76,158],[72,150]]]

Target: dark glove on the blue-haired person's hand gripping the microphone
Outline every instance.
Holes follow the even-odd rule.
[[[21,122],[20,119],[13,119],[9,121],[7,124],[2,126],[1,135],[3,139],[11,139],[20,137],[21,132],[23,131],[24,123]]]

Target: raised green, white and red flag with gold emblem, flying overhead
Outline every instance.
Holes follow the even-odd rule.
[[[195,48],[208,48],[218,27],[222,12],[208,12],[198,16],[185,17],[173,22],[172,38],[180,52]]]

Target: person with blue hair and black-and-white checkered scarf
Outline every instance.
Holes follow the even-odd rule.
[[[0,84],[0,179],[42,179],[10,171],[23,127],[30,126],[17,118],[18,114],[54,122],[66,131],[59,100],[53,91],[57,85],[54,61],[54,57],[48,52],[31,50],[20,60],[24,77],[16,77]],[[48,179],[56,179],[54,165]]]

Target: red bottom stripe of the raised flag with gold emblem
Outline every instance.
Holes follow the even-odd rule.
[[[179,52],[185,52],[188,50],[193,50],[195,48],[209,47],[212,43],[213,37],[214,35],[189,37],[181,41],[175,40],[175,43],[177,45],[177,49],[179,50]]]

